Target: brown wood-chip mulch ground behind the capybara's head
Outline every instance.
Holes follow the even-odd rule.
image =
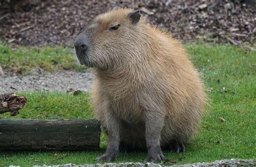
[[[15,45],[72,44],[89,20],[115,6],[142,10],[181,41],[255,43],[255,0],[2,0],[0,38]]]

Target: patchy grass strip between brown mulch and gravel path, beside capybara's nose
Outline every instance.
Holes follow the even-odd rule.
[[[32,68],[41,67],[45,71],[56,71],[60,68],[85,71],[80,66],[73,50],[62,46],[40,48],[10,48],[0,41],[0,65],[3,69],[20,74],[29,74]]]

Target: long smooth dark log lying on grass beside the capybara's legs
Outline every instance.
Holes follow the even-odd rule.
[[[0,119],[0,150],[98,150],[97,120]]]

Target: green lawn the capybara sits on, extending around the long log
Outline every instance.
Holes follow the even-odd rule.
[[[180,154],[164,152],[166,159],[184,164],[227,158],[255,158],[256,52],[244,52],[231,45],[190,44],[185,47],[203,74],[211,102],[198,133],[186,146],[186,151]],[[23,50],[25,52],[26,48]],[[49,50],[56,51],[56,48]],[[61,52],[60,48],[57,50]],[[41,48],[39,53],[42,53]],[[0,63],[3,63],[1,55]],[[28,98],[28,102],[15,118],[92,117],[88,93],[77,96],[49,92],[23,94]],[[9,113],[0,117],[10,118]],[[220,122],[218,117],[223,117],[226,121]],[[103,134],[99,151],[1,151],[0,166],[92,164],[96,163],[94,159],[97,156],[103,154],[106,142],[106,136]],[[120,153],[116,162],[143,162],[145,158],[146,152]]]

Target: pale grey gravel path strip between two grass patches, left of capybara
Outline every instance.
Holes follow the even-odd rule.
[[[0,76],[0,94],[10,92],[51,91],[66,92],[70,88],[80,91],[91,91],[94,75],[92,69],[85,73],[58,71],[54,73],[38,72],[34,69],[31,75],[17,74]]]

